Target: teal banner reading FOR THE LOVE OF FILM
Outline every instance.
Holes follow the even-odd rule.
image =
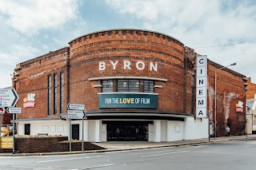
[[[99,108],[145,108],[158,109],[158,95],[114,93],[99,94]]]

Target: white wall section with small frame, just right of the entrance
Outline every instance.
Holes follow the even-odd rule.
[[[167,121],[167,141],[183,140],[183,121]]]

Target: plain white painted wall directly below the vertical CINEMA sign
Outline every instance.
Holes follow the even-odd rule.
[[[184,140],[208,138],[208,119],[188,117],[184,122]]]

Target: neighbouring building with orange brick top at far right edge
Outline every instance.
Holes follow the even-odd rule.
[[[247,78],[246,91],[246,132],[247,134],[256,134],[256,84]]]

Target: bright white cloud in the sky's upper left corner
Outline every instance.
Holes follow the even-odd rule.
[[[77,17],[78,3],[72,0],[0,1],[0,14],[6,23],[22,34],[62,26]]]

